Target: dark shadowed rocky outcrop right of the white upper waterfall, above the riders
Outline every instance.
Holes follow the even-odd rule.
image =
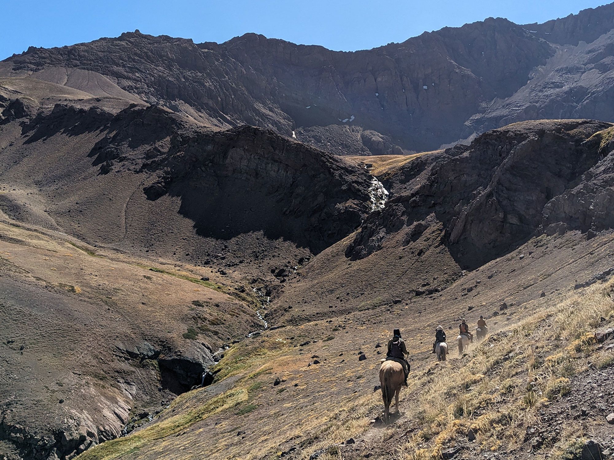
[[[364,258],[392,235],[406,245],[443,224],[432,244],[475,269],[544,231],[609,228],[611,155],[602,159],[599,142],[585,142],[609,127],[517,123],[415,159],[391,179],[396,196],[365,220],[346,256]]]

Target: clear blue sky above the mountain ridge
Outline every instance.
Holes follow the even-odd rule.
[[[424,31],[487,17],[544,22],[605,2],[594,0],[0,0],[0,59],[30,45],[55,47],[152,35],[223,42],[247,32],[353,51],[402,42]]]

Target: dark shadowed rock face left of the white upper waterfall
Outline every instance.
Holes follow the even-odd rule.
[[[16,106],[5,104],[4,112]],[[20,123],[23,144],[34,156],[44,155],[47,140],[66,138],[79,145],[78,161],[89,175],[129,172],[132,183],[141,183],[136,193],[149,201],[179,197],[179,213],[203,237],[228,240],[262,231],[318,253],[356,229],[371,210],[371,175],[364,168],[271,130],[209,131],[167,109],[136,104],[116,115],[57,104],[36,116],[12,110],[5,121],[11,120]],[[28,174],[47,174],[40,164],[34,162]],[[114,183],[112,175],[106,180]],[[82,187],[61,185],[71,201],[79,201]],[[158,219],[156,209],[150,208],[149,221]]]

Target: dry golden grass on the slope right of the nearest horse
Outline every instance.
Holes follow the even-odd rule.
[[[568,394],[569,377],[596,353],[600,318],[614,318],[614,302],[607,295],[613,286],[614,280],[605,289],[592,286],[491,335],[461,366],[432,367],[418,382],[422,392],[410,415],[421,430],[402,447],[402,458],[440,458],[456,440],[466,439],[469,429],[480,451],[518,447],[526,427],[537,420],[538,408]],[[600,366],[613,364],[612,355],[601,355]],[[556,458],[577,449],[577,429],[571,425],[553,451]]]

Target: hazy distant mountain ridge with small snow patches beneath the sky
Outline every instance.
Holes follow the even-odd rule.
[[[542,25],[488,18],[359,52],[256,34],[194,44],[137,31],[29,48],[3,61],[0,75],[140,98],[215,128],[294,132],[342,155],[380,155],[433,150],[515,121],[614,119],[612,25],[608,5]]]

